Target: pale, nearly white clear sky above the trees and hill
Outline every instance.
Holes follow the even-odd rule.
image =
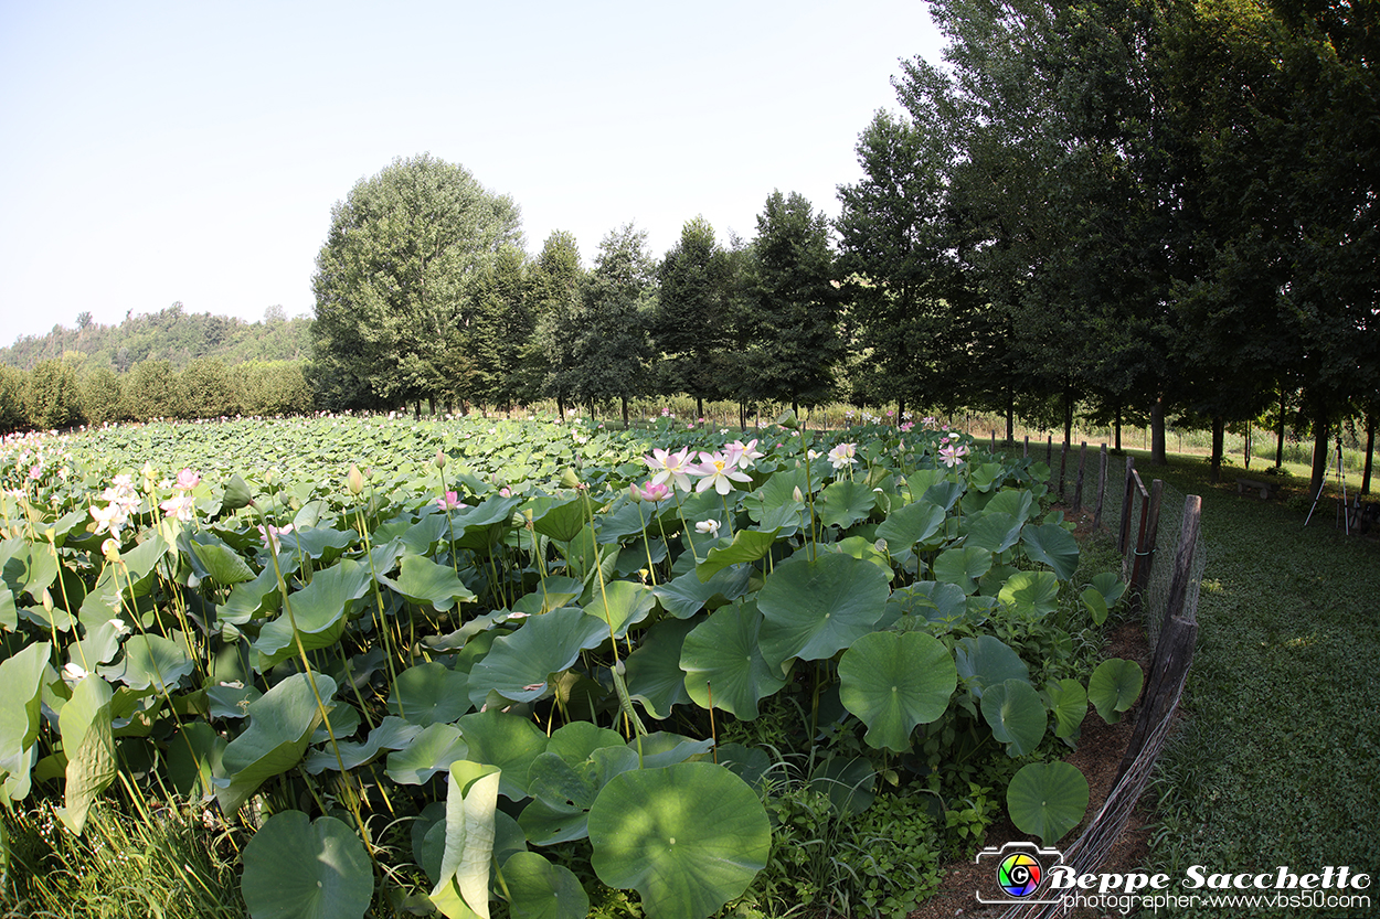
[[[654,254],[773,189],[838,214],[919,0],[0,0],[0,345],[127,310],[310,313],[331,206],[429,152],[511,195],[529,251]]]

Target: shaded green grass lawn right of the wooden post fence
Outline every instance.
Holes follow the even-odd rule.
[[[1151,862],[1172,876],[1380,873],[1380,541],[1333,528],[1330,493],[1304,527],[1307,469],[1292,472],[1285,501],[1264,502],[1231,471],[1210,484],[1196,457],[1150,471],[1202,495],[1209,553],[1185,718],[1156,781]]]

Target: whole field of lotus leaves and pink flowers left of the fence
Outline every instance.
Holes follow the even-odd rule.
[[[1141,673],[1049,469],[780,421],[10,442],[4,802],[175,798],[254,919],[904,915],[1002,806],[1053,843]]]

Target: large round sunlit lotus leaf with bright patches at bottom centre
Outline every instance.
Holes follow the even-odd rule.
[[[613,778],[589,811],[593,868],[642,894],[647,915],[707,919],[766,867],[771,829],[747,782],[713,763]]]

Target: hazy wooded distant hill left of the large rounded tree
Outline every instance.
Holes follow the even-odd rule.
[[[32,370],[50,357],[79,357],[84,368],[109,367],[124,373],[141,360],[167,360],[182,370],[197,357],[219,357],[225,364],[305,360],[310,356],[312,320],[287,319],[270,306],[261,322],[232,316],[188,313],[172,304],[157,313],[127,315],[119,326],[77,316],[77,327],[54,326],[47,335],[23,335],[0,348],[0,363]]]

